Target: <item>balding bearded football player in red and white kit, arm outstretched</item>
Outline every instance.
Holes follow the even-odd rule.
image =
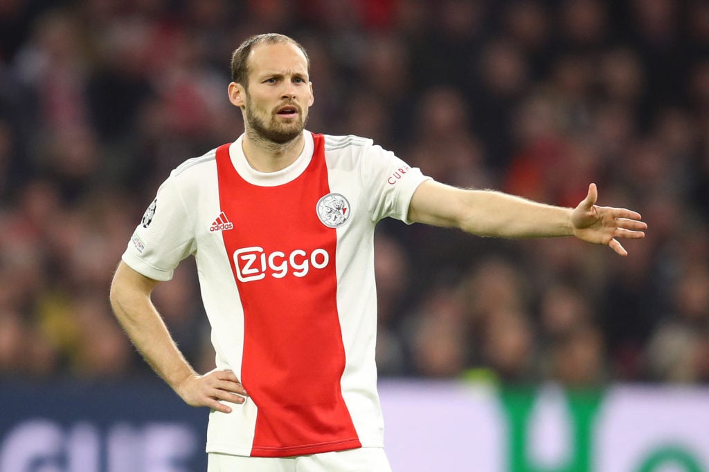
[[[245,133],[177,167],[133,234],[111,287],[118,320],[189,405],[212,409],[210,471],[389,471],[376,393],[376,222],[503,237],[576,236],[626,255],[642,238],[627,209],[575,209],[426,178],[360,137],[305,130],[303,47],[245,41],[229,100]],[[150,301],[194,255],[217,369],[194,372]]]

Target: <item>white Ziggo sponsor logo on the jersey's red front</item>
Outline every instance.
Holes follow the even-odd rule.
[[[252,246],[234,251],[234,266],[240,282],[262,280],[267,273],[271,277],[282,279],[292,270],[296,277],[305,277],[311,270],[323,269],[330,263],[330,254],[325,249],[315,249],[310,254],[296,249],[290,254],[274,251],[267,254],[264,248]]]

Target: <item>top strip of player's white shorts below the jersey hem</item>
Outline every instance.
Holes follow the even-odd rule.
[[[294,457],[247,457],[208,454],[207,472],[391,472],[380,447],[323,452]]]

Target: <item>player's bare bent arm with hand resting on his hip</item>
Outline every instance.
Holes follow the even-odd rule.
[[[150,301],[157,285],[121,262],[111,284],[111,306],[128,337],[150,367],[187,403],[230,413],[226,400],[243,403],[246,391],[231,371],[201,376],[186,361]]]

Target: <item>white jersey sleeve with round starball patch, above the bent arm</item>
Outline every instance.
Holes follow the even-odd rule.
[[[122,259],[145,277],[165,281],[172,279],[174,268],[194,247],[194,225],[170,175],[135,228]]]

